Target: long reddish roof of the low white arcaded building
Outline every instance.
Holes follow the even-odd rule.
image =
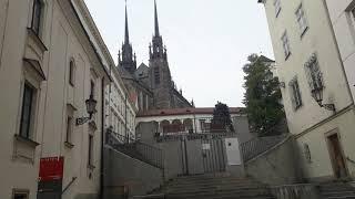
[[[231,114],[244,114],[244,107],[230,107]],[[199,107],[199,108],[166,108],[166,109],[151,109],[144,113],[139,113],[138,117],[151,116],[166,116],[166,115],[191,115],[191,114],[213,114],[214,107]]]

